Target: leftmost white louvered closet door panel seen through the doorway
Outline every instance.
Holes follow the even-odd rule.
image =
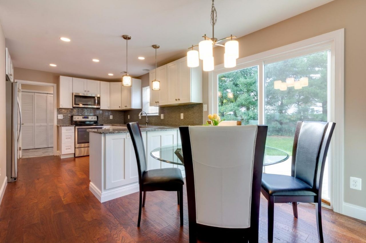
[[[34,93],[22,92],[22,150],[34,148]]]

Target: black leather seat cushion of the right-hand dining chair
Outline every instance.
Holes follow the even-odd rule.
[[[310,196],[316,195],[307,183],[288,175],[262,175],[262,189],[273,196]]]

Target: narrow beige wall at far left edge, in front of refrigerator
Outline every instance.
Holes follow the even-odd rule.
[[[5,37],[0,23],[0,189],[6,176]],[[7,181],[5,181],[6,186]]]

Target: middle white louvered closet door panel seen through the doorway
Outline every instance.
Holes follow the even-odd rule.
[[[34,148],[47,148],[47,94],[34,94]]]

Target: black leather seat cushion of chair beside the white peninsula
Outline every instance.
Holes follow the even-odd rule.
[[[184,185],[179,168],[148,170],[142,176],[144,191],[178,191]]]

